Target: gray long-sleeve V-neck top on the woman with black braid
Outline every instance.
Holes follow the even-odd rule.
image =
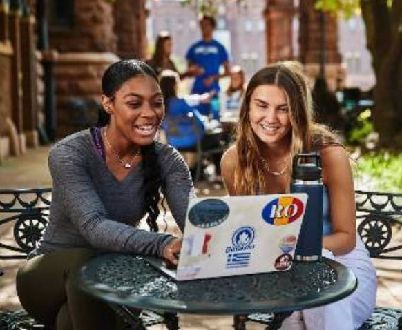
[[[155,146],[166,201],[183,231],[194,194],[189,169],[173,147]],[[146,213],[142,163],[117,181],[95,151],[90,130],[59,141],[48,161],[53,179],[50,221],[44,240],[30,258],[70,247],[162,256],[173,236],[136,228]]]

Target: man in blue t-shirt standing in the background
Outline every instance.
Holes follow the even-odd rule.
[[[215,27],[216,21],[213,17],[202,17],[202,40],[191,45],[187,51],[188,74],[195,76],[192,94],[211,93],[218,96],[220,77],[230,74],[227,51],[221,43],[212,38]],[[219,74],[220,65],[224,65],[223,74]],[[199,110],[201,114],[209,114],[209,105],[202,105]]]

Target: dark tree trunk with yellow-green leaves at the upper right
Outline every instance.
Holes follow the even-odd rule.
[[[402,149],[402,0],[318,0],[316,8],[361,12],[376,74],[374,127],[383,147]]]

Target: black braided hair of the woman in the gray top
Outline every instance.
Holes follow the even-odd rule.
[[[142,61],[135,59],[122,60],[110,65],[102,76],[102,92],[111,101],[115,98],[117,90],[129,79],[135,76],[150,76],[157,82],[157,76],[153,69]],[[111,121],[111,115],[103,108],[99,110],[97,127],[104,127]],[[162,170],[157,159],[155,142],[141,147],[144,165],[144,204],[148,214],[146,223],[151,231],[158,231],[157,217],[160,214],[158,203],[161,200],[161,192],[164,192]],[[163,200],[162,200],[163,203]]]

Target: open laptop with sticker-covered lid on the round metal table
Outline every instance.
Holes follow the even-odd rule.
[[[306,204],[307,194],[192,198],[177,269],[146,260],[178,281],[285,271]]]

